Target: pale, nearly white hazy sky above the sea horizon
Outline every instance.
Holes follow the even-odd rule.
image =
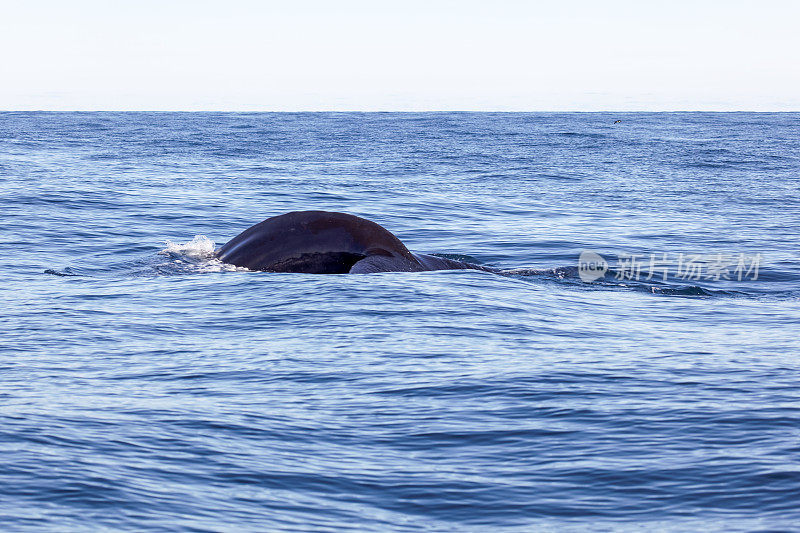
[[[0,109],[800,110],[800,1],[0,0]]]

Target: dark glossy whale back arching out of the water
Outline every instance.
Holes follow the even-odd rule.
[[[345,213],[295,211],[247,228],[217,250],[250,270],[307,274],[367,274],[490,268],[412,253],[387,229]]]

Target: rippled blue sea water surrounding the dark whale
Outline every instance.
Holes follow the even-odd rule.
[[[0,113],[0,529],[798,530],[799,192],[791,113]],[[213,259],[305,209],[504,272]]]

